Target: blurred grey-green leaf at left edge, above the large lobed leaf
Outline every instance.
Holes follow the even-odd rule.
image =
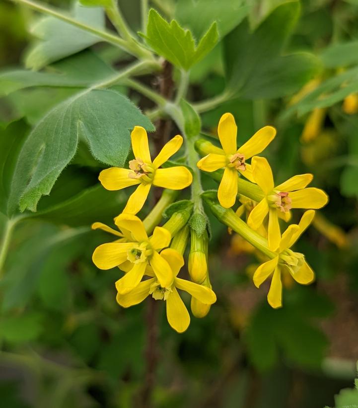
[[[53,64],[47,72],[30,70],[0,74],[0,96],[30,86],[84,87],[104,80],[115,71],[91,51],[83,51]]]

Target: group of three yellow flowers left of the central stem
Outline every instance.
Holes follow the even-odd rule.
[[[99,245],[92,260],[100,269],[118,267],[124,272],[124,276],[116,282],[119,305],[125,308],[137,305],[149,295],[155,300],[164,300],[170,326],[183,332],[189,326],[190,317],[177,289],[192,296],[193,314],[198,317],[202,317],[202,313],[195,305],[204,305],[209,311],[210,305],[216,301],[215,293],[205,279],[199,284],[178,277],[184,265],[183,252],[189,238],[186,226],[189,217],[184,215],[185,212],[175,213],[164,227],[155,226],[148,237],[151,226],[146,229],[135,215],[142,209],[151,185],[180,190],[191,184],[192,174],[187,167],[159,168],[180,149],[183,138],[178,135],[171,139],[153,161],[145,130],[136,126],[131,138],[135,159],[129,162],[129,169],[108,168],[101,171],[99,180],[108,190],[138,187],[129,197],[123,212],[114,220],[118,230],[102,223],[92,225],[93,229],[101,229],[117,238],[114,242]],[[172,196],[168,194],[167,197]],[[146,220],[155,218],[156,211],[157,208],[154,208]],[[202,269],[201,266],[194,266],[191,270],[196,273],[198,268]]]

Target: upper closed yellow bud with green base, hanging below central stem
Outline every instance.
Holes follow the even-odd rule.
[[[209,237],[205,230],[201,235],[193,228],[190,231],[190,252],[188,259],[188,270],[190,277],[195,283],[203,283],[207,277]]]

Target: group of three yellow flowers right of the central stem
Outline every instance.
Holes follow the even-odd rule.
[[[220,178],[217,199],[221,210],[211,193],[205,193],[204,198],[231,231],[237,232],[271,258],[256,269],[253,280],[259,287],[272,276],[268,302],[273,308],[279,308],[282,306],[282,274],[289,273],[300,284],[314,280],[314,273],[304,255],[293,252],[290,247],[312,222],[313,210],[327,204],[327,194],[315,187],[307,188],[313,179],[312,174],[295,175],[275,185],[270,164],[265,158],[256,156],[275,138],[275,128],[265,126],[237,148],[235,120],[230,113],[225,113],[221,116],[217,132],[222,149],[199,140],[197,150],[206,156],[197,165],[203,171],[216,172],[215,179]],[[248,159],[251,159],[251,164],[247,163]],[[224,172],[218,177],[217,170],[221,168]],[[240,175],[249,181],[240,179]],[[232,207],[237,198],[241,205],[236,213],[222,211]],[[303,214],[298,225],[290,225],[281,234],[279,219],[288,222],[290,210],[296,208],[309,211]],[[243,215],[246,215],[247,224],[240,219]]]

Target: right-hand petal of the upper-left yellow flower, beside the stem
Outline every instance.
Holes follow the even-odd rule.
[[[153,185],[171,190],[182,190],[188,187],[192,181],[193,176],[188,168],[175,166],[155,170]]]

